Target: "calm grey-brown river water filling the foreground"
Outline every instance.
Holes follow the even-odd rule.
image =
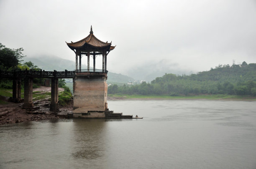
[[[0,126],[0,169],[256,169],[256,102],[108,101],[143,119]]]

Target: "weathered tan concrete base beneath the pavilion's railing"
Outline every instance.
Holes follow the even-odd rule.
[[[88,111],[108,109],[107,75],[105,73],[77,73],[74,80],[74,117]],[[90,113],[85,118],[104,118],[104,113]]]

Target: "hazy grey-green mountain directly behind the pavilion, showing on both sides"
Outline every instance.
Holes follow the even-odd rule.
[[[74,70],[76,64],[72,60],[62,59],[61,57],[42,55],[39,57],[24,57],[23,62],[31,61],[34,65],[38,66],[42,70],[46,71],[64,71]],[[82,67],[87,67],[87,65],[82,65]],[[108,83],[113,84],[127,84],[128,81],[133,81],[132,77],[121,75],[118,73],[108,72]]]

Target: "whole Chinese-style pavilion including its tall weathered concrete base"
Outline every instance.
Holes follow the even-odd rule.
[[[102,42],[97,39],[93,34],[92,26],[87,37],[77,42],[71,41],[67,45],[76,55],[76,76],[73,79],[73,116],[105,118],[105,113],[108,112],[107,55],[115,49],[115,46],[111,46],[111,42]],[[81,69],[82,55],[87,56],[87,69]],[[90,56],[93,58],[93,69],[90,69]],[[102,56],[102,70],[95,67],[97,56]]]

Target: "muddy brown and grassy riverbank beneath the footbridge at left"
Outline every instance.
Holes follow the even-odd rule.
[[[0,124],[18,123],[27,121],[38,121],[46,119],[66,118],[68,113],[73,112],[73,100],[66,99],[69,93],[59,88],[59,110],[51,112],[51,87],[40,86],[33,89],[34,107],[23,108],[23,99],[20,103],[9,102],[12,97],[12,89],[0,89]],[[24,90],[21,90],[21,97],[24,97]],[[64,98],[64,99],[63,99]]]

